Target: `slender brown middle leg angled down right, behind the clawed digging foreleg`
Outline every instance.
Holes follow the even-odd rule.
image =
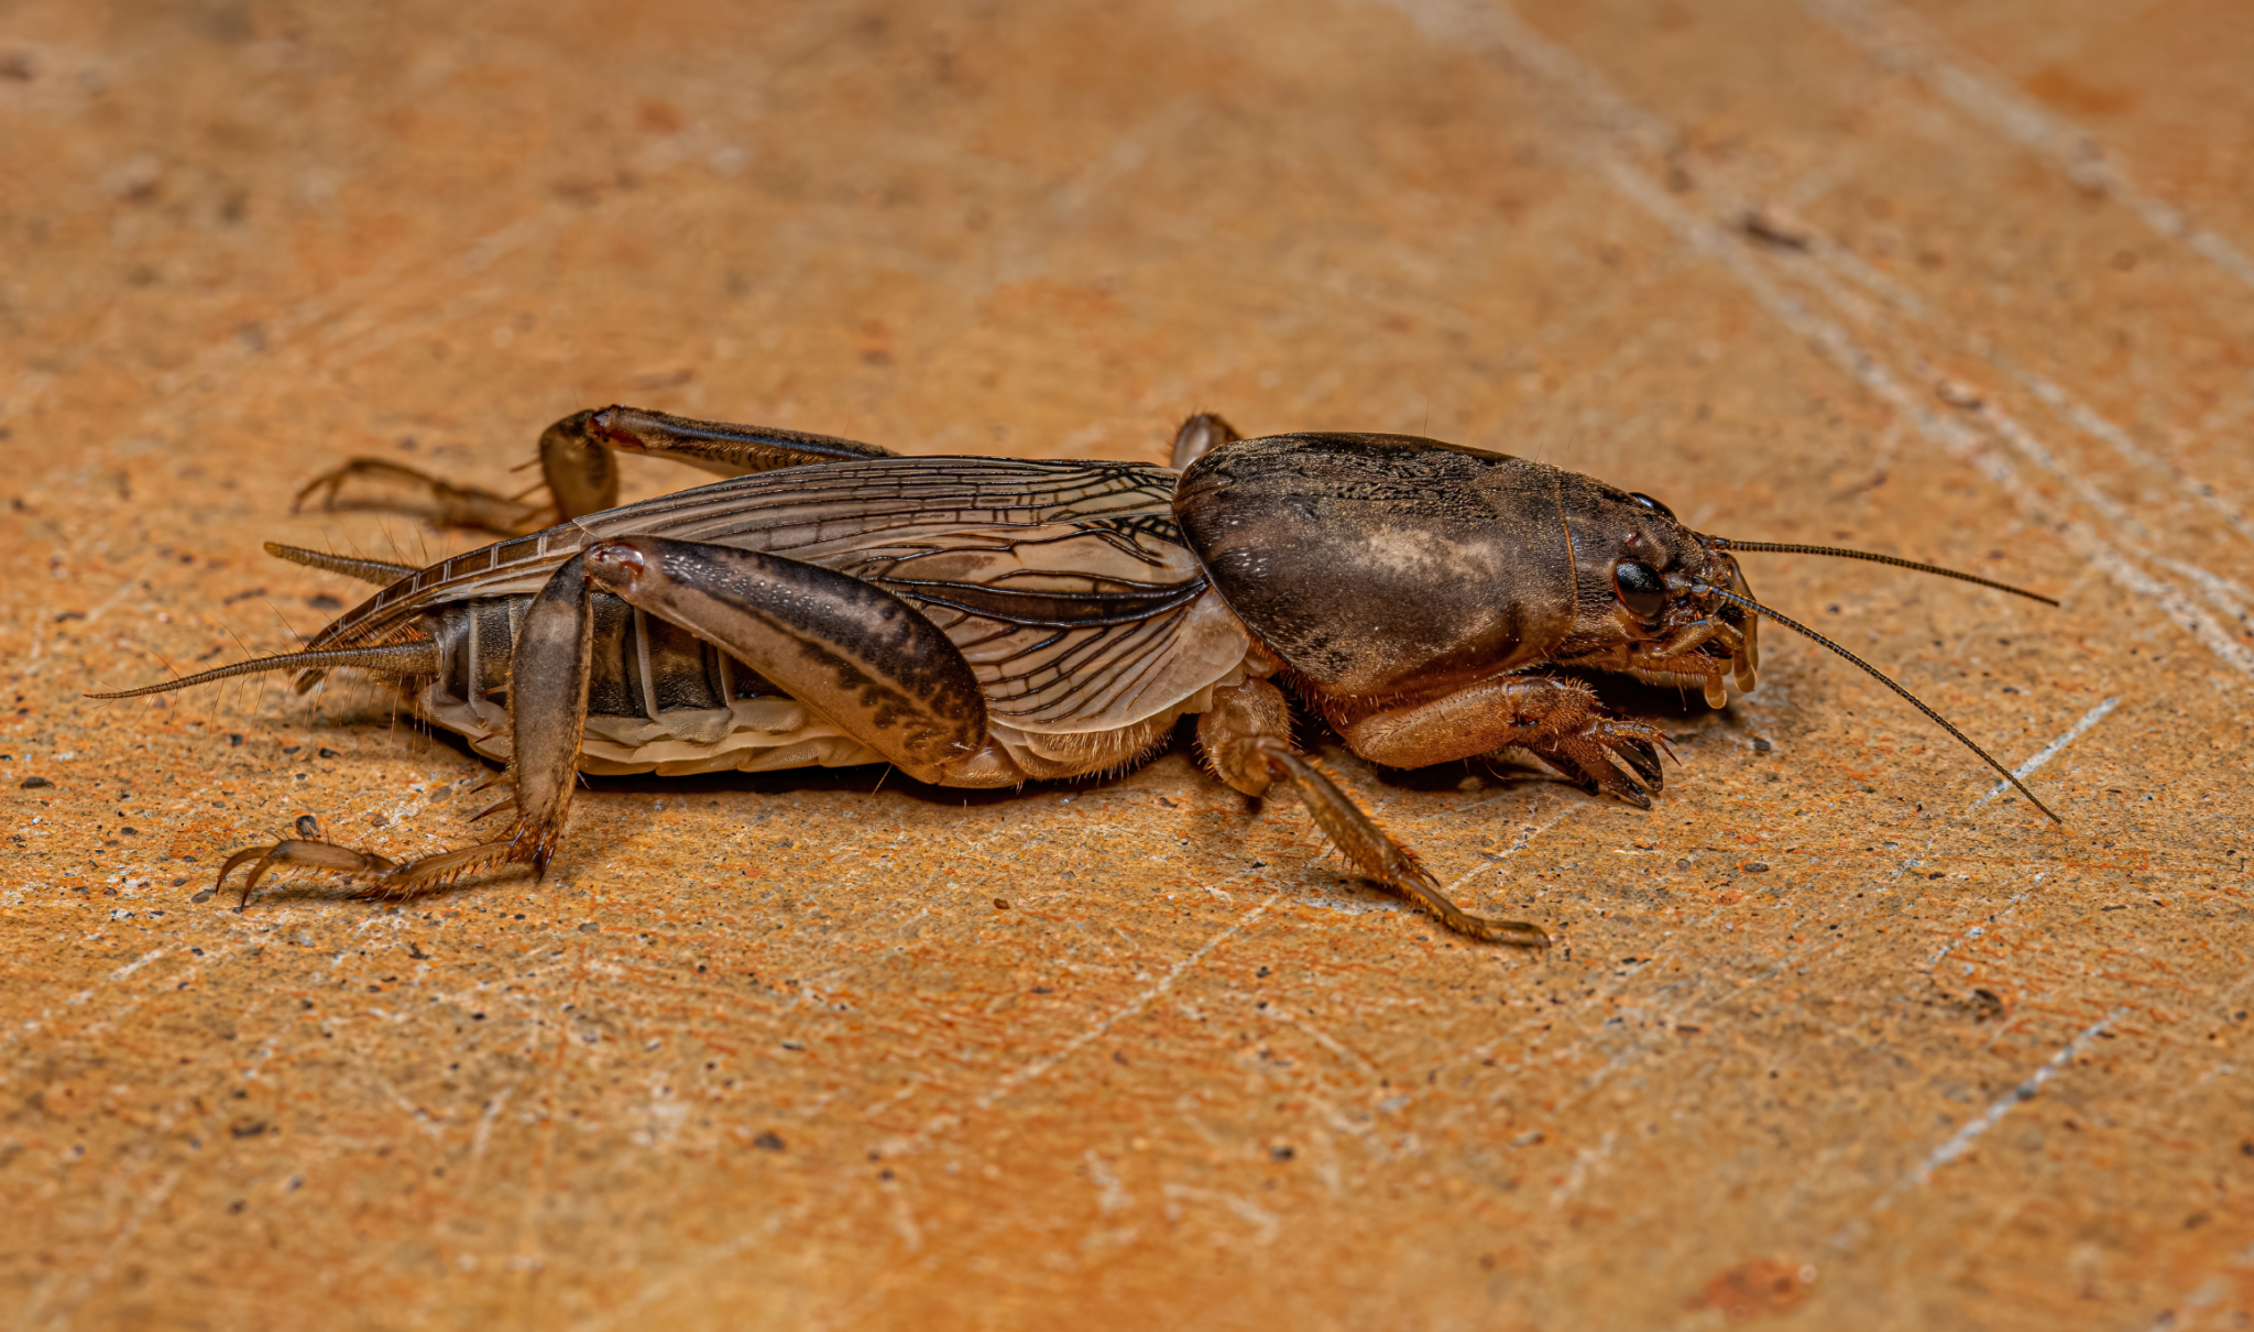
[[[1416,852],[1377,827],[1321,764],[1296,755],[1292,710],[1276,685],[1246,681],[1217,690],[1213,708],[1197,719],[1197,742],[1215,775],[1246,796],[1264,796],[1278,780],[1289,782],[1346,863],[1438,915],[1452,931],[1494,944],[1548,947],[1548,933],[1537,924],[1488,920],[1449,902]]]

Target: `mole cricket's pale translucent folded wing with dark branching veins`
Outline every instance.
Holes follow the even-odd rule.
[[[1177,473],[1132,462],[881,458],[721,480],[399,579],[309,647],[394,642],[424,609],[532,593],[577,550],[656,534],[870,579],[969,658],[994,721],[1107,730],[1226,674],[1246,640],[1174,527]]]

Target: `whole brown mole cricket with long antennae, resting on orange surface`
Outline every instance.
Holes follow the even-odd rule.
[[[730,480],[613,507],[615,451]],[[1370,762],[1512,748],[1650,807],[1659,730],[1548,667],[1697,685],[1720,705],[1727,678],[1754,687],[1767,615],[1884,681],[1760,606],[1731,552],[1848,554],[2020,593],[1882,554],[1704,536],[1648,496],[1524,458],[1409,435],[1242,439],[1210,415],[1183,424],[1174,469],[895,458],[631,408],[557,421],[541,462],[559,525],[421,570],[268,545],[385,586],[302,651],[97,694],[270,669],[300,669],[307,690],[356,667],[509,764],[514,796],[496,809],[514,820],[494,841],[392,863],[286,838],[228,859],[221,883],[255,861],[243,902],[277,865],[354,872],[363,897],[390,899],[503,863],[545,872],[577,773],[888,762],[940,787],[1014,787],[1141,762],[1197,714],[1215,775],[1246,796],[1287,784],[1359,872],[1472,938],[1544,944],[1535,924],[1449,902],[1303,757],[1285,685]],[[347,487],[367,480],[406,480],[449,523],[536,516],[365,460],[309,494],[354,503]]]

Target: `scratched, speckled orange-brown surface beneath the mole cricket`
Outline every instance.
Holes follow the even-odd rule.
[[[2236,1327],[2254,1314],[2254,25],[2227,0],[0,7],[0,1318]],[[631,401],[913,453],[1429,433],[1711,532],[1772,631],[1641,814],[1183,751],[597,782],[543,886],[367,687],[97,705],[356,597],[291,514]],[[649,464],[631,494],[694,480]],[[2085,726],[2087,723],[2087,726]],[[29,780],[41,780],[36,784]],[[1975,807],[1977,805],[1977,807]]]

